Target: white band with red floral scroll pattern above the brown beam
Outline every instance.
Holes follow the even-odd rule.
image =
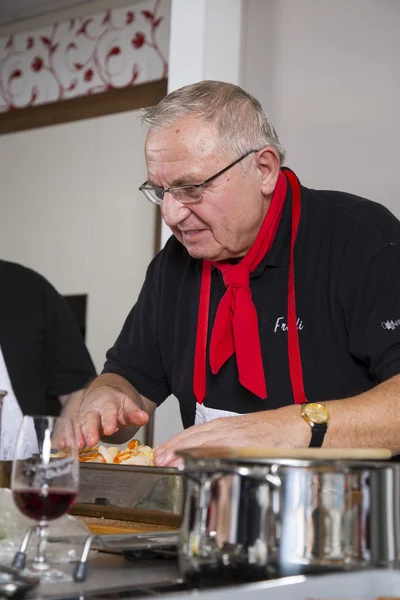
[[[139,6],[0,39],[0,112],[166,77],[170,3]]]

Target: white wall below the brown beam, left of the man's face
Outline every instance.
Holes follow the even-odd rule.
[[[156,208],[139,111],[0,137],[0,256],[62,294],[88,294],[87,345],[104,363],[154,253]]]

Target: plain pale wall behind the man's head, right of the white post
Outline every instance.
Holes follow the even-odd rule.
[[[287,165],[400,217],[400,2],[247,0],[243,87],[269,113]]]

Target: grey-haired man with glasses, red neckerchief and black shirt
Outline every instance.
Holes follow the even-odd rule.
[[[397,219],[301,186],[239,87],[184,87],[144,122],[140,189],[174,236],[86,392],[81,445],[130,437],[172,393],[185,431],[159,465],[210,445],[399,452]]]

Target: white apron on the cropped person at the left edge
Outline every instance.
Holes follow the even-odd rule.
[[[13,460],[18,431],[22,423],[23,414],[15,397],[14,390],[8,374],[3,352],[0,346],[0,390],[7,392],[3,398],[0,431],[0,460]],[[37,440],[33,423],[29,429],[24,456],[31,456],[37,452]],[[21,456],[21,458],[23,458]]]

